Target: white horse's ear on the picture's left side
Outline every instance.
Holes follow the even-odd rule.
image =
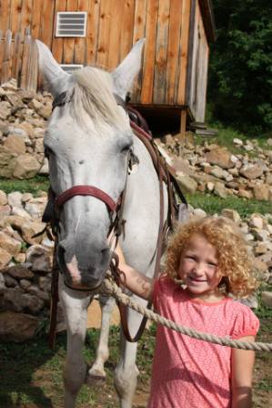
[[[64,92],[67,88],[67,74],[55,61],[51,51],[44,43],[35,40],[39,53],[39,68],[42,72],[47,87],[54,97]]]

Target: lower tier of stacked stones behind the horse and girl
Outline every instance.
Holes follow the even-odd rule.
[[[0,190],[0,339],[25,341],[35,335],[39,321],[48,316],[54,242],[43,232],[44,192],[32,194]],[[203,209],[190,213],[206,216]],[[255,257],[257,277],[272,284],[272,215],[252,214],[241,220],[237,211],[224,209],[243,230]],[[217,215],[216,215],[217,216]],[[34,237],[40,232],[41,235]],[[272,307],[271,292],[262,292]],[[257,307],[256,297],[247,304]]]

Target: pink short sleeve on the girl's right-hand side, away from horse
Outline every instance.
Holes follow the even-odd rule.
[[[256,336],[259,329],[257,316],[247,306],[241,304],[237,311],[237,318],[232,332],[232,339],[239,339],[246,336]]]

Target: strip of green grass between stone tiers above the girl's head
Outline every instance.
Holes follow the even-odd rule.
[[[207,214],[220,214],[222,209],[236,209],[242,219],[246,219],[253,212],[271,214],[271,202],[257,199],[241,199],[237,197],[219,197],[196,192],[187,194],[186,199],[194,208],[204,209]]]

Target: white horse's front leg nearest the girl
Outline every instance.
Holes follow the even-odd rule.
[[[146,301],[135,298],[137,302],[146,305]],[[142,320],[142,316],[131,309],[127,310],[128,326],[132,335],[136,333]],[[120,399],[121,408],[131,408],[134,394],[136,392],[138,369],[136,367],[136,342],[126,342],[126,338],[121,333],[120,360],[116,366],[115,386]]]

